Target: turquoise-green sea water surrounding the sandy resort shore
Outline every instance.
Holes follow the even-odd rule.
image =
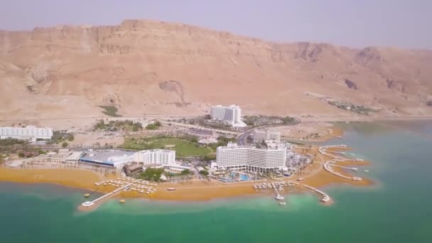
[[[117,200],[78,212],[82,190],[0,183],[0,242],[432,242],[432,123],[342,124],[370,188],[210,202]],[[396,129],[400,127],[400,129]],[[425,136],[426,135],[426,136]],[[365,173],[363,169],[370,172]]]

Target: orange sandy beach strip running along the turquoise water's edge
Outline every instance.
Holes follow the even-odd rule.
[[[335,136],[342,136],[343,130],[339,127],[333,128]],[[333,138],[333,136],[326,137],[325,139]],[[310,185],[313,188],[323,188],[328,185],[355,185],[355,186],[369,186],[374,182],[369,178],[363,178],[360,181],[347,180],[337,175],[333,175],[325,171],[323,165],[326,161],[332,158],[325,156],[318,152],[319,146],[312,146],[312,148],[303,153],[315,154],[313,163],[309,164],[306,168],[288,177],[273,179],[264,179],[258,181],[244,181],[234,183],[222,183],[217,180],[203,181],[194,180],[192,182],[184,183],[158,183],[156,186],[157,192],[153,194],[141,194],[138,191],[121,191],[119,194],[114,195],[112,199],[134,199],[142,198],[146,200],[163,200],[172,202],[202,202],[217,199],[228,199],[237,197],[255,197],[274,195],[272,190],[269,193],[262,193],[253,188],[255,183],[263,182],[271,183],[278,181],[298,181],[299,178],[303,180],[298,181],[301,184]],[[299,152],[301,147],[296,148]],[[342,148],[343,151],[349,148]],[[329,152],[340,151],[340,149],[329,148]],[[337,162],[337,166],[368,166],[369,161],[342,161]],[[345,169],[334,167],[334,170],[342,175],[353,176]],[[93,193],[109,193],[115,188],[111,185],[95,185],[95,183],[102,180],[115,180],[116,175],[106,175],[95,173],[94,171],[85,171],[73,168],[0,168],[0,181],[9,181],[14,183],[53,183],[55,185],[66,186],[69,188],[77,188],[87,190],[90,194]],[[295,186],[296,192],[306,191],[312,193],[310,190],[303,190],[302,186]],[[168,191],[167,188],[175,188],[174,191]],[[284,192],[284,194],[291,194],[292,192]],[[313,193],[315,194],[315,193]],[[330,195],[331,197],[331,195]],[[83,202],[86,199],[83,197]]]

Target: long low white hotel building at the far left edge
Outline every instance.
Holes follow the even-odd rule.
[[[0,139],[26,139],[36,141],[36,139],[51,139],[53,129],[37,128],[36,126],[26,127],[0,127]]]

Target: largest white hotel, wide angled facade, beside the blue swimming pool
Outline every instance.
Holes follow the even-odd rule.
[[[229,143],[217,148],[216,162],[222,169],[280,171],[286,166],[286,147],[279,144],[276,148],[255,148]]]

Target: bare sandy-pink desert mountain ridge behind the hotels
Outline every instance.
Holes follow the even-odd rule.
[[[159,21],[0,31],[0,119],[101,116],[99,105],[200,114],[232,103],[244,113],[352,114],[318,97],[428,115],[431,67],[431,50],[272,43]]]

